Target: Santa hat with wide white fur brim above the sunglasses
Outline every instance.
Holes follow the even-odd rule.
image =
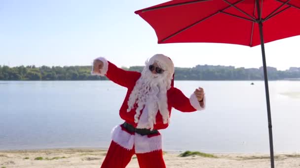
[[[162,54],[156,54],[154,56],[152,56],[149,60],[149,62],[155,62],[158,61],[160,64],[162,64],[162,66],[164,66],[164,70],[166,71],[166,73],[168,73],[167,77],[172,79],[172,86],[174,83],[174,64],[173,61],[171,60],[171,58],[169,58],[168,56],[162,55]]]

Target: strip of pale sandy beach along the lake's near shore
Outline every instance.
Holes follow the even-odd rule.
[[[105,149],[0,151],[0,168],[99,168]],[[213,154],[215,158],[164,152],[167,168],[270,168],[267,154]],[[300,168],[300,154],[276,154],[276,168]],[[134,155],[126,168],[139,168]]]

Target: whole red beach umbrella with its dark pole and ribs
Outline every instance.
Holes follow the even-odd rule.
[[[135,12],[155,30],[158,43],[261,44],[274,168],[272,122],[264,43],[300,35],[300,0],[171,0]]]

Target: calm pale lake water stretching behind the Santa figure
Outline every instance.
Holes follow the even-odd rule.
[[[207,109],[172,110],[164,150],[268,153],[263,81],[175,81],[201,86]],[[300,81],[271,81],[274,152],[300,152]],[[108,147],[126,88],[111,81],[0,81],[0,150]]]

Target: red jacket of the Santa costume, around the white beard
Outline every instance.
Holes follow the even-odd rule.
[[[106,62],[104,62],[106,64]],[[128,99],[130,96],[130,93],[132,92],[137,80],[141,77],[141,73],[134,72],[134,71],[125,71],[121,68],[118,68],[113,63],[107,61],[108,65],[104,65],[104,68],[107,68],[106,76],[114,83],[119,84],[121,86],[127,87],[127,93],[124,99],[124,102],[120,108],[119,114],[120,117],[128,122],[129,124],[133,125],[134,127],[137,127],[137,123],[134,122],[134,115],[135,115],[135,108],[132,109],[130,112],[127,112],[128,109]],[[181,112],[195,112],[197,110],[201,110],[204,108],[201,108],[199,103],[197,102],[195,96],[194,96],[194,102],[193,105],[192,102],[188,97],[186,97],[181,90],[174,87],[173,85],[171,88],[167,91],[167,99],[168,99],[168,110],[169,115],[171,117],[171,110],[172,107],[175,109],[181,111]],[[195,106],[198,106],[200,108],[197,108],[197,110],[194,108]],[[141,111],[142,115],[142,111]],[[140,116],[141,116],[140,115]],[[156,114],[156,124],[154,125],[153,129],[159,130],[159,129],[165,129],[168,127],[168,124],[164,124],[162,121],[162,116],[160,112],[157,112]]]

